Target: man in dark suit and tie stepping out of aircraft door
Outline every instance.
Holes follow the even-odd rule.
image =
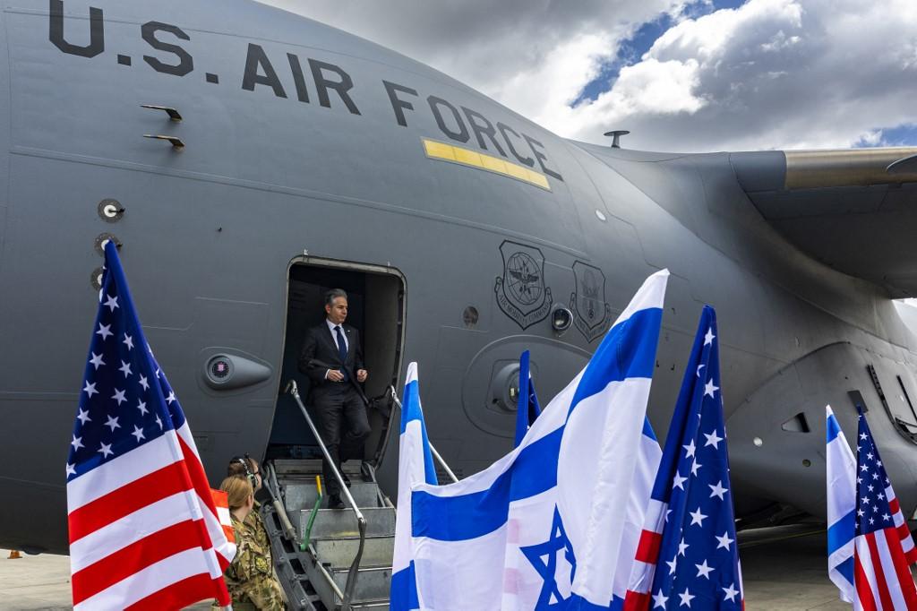
[[[322,420],[322,440],[338,471],[341,461],[359,455],[370,435],[366,404],[357,385],[366,381],[367,372],[363,368],[359,331],[344,324],[347,305],[347,293],[341,289],[326,293],[326,318],[306,332],[299,356],[299,371],[312,383],[309,400]],[[324,472],[328,506],[343,508],[340,485],[327,464]],[[344,481],[350,485],[346,476]]]

